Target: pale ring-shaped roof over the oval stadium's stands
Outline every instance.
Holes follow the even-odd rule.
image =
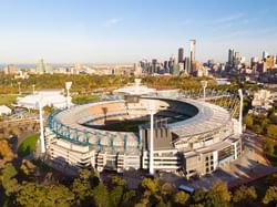
[[[153,97],[153,99],[158,100],[157,97]],[[161,100],[166,101],[166,99],[161,99]],[[189,105],[193,105],[198,111],[196,115],[194,115],[191,118],[167,124],[168,130],[172,133],[176,134],[179,138],[201,135],[201,134],[205,134],[208,132],[219,130],[220,127],[225,126],[230,120],[230,115],[227,110],[219,107],[217,105],[214,105],[214,104],[209,104],[203,101],[189,100],[189,99],[182,100],[182,101],[179,100],[168,100],[168,101],[185,102]],[[90,120],[93,120],[93,114],[90,114],[90,111],[89,111],[89,108],[92,107],[93,105],[109,104],[109,103],[122,103],[122,102],[124,103],[124,101],[122,100],[122,101],[109,101],[109,102],[100,102],[100,103],[80,105],[80,106],[72,107],[71,110],[63,111],[57,114],[53,118],[55,122],[64,125],[65,127],[72,128],[72,134],[74,134],[74,131],[78,131],[78,132],[94,134],[93,137],[98,133],[102,135],[105,134],[109,136],[112,135],[112,136],[121,137],[122,139],[124,139],[124,137],[126,136],[129,141],[136,142],[135,133],[102,131],[102,130],[91,128],[91,127],[86,127],[82,125],[83,123]],[[184,110],[188,110],[188,108],[184,108]],[[189,112],[187,113],[189,114]]]

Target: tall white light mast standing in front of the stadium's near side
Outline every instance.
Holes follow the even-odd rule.
[[[155,102],[150,102],[148,113],[151,117],[150,127],[150,174],[154,175],[154,114],[156,113]]]

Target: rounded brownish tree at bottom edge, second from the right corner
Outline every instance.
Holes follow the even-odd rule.
[[[247,204],[250,200],[255,200],[257,198],[257,194],[255,187],[246,187],[240,186],[238,189],[235,190],[233,200],[234,203],[243,203]]]

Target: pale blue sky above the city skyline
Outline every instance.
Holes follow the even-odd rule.
[[[276,0],[0,0],[0,63],[167,60],[277,54]]]

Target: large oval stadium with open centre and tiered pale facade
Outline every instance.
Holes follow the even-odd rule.
[[[150,103],[155,105],[154,170],[187,178],[214,172],[242,155],[239,123],[227,108],[192,97],[132,94],[59,111],[45,127],[48,161],[65,172],[124,172],[150,167]],[[109,125],[140,122],[137,131]]]

